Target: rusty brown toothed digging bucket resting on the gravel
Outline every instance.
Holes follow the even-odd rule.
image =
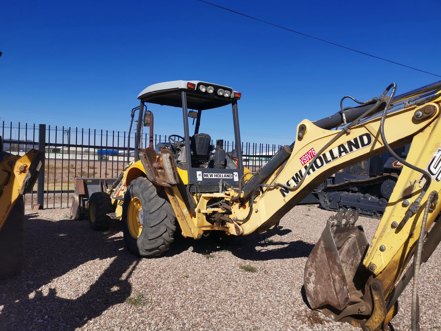
[[[361,265],[368,242],[363,227],[354,225],[358,215],[359,210],[352,213],[349,209],[345,215],[340,210],[331,216],[306,261],[304,284],[309,304],[334,320],[351,314],[343,311],[349,303],[361,301],[369,277]]]

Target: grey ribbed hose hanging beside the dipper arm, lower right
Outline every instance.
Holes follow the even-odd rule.
[[[419,278],[419,267],[421,264],[421,252],[424,241],[424,235],[426,233],[426,223],[427,217],[430,211],[430,205],[432,201],[434,204],[437,203],[438,193],[432,191],[426,201],[426,207],[424,208],[424,216],[421,222],[421,229],[419,231],[419,238],[417,246],[415,248],[414,254],[414,275],[413,275],[413,285],[412,285],[412,310],[411,310],[411,321],[412,321],[412,331],[419,330],[419,309],[418,309],[418,278]]]

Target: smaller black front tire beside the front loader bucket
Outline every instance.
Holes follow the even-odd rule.
[[[108,230],[112,218],[107,214],[113,213],[112,199],[106,192],[95,192],[89,199],[89,226],[93,230]]]

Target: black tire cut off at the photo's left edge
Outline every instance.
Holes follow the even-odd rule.
[[[22,269],[24,260],[25,205],[20,197],[0,229],[0,279],[11,278]]]

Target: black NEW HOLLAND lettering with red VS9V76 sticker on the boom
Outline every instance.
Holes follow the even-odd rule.
[[[303,178],[303,176],[310,176],[313,173],[315,173],[318,169],[320,169],[322,166],[335,161],[337,158],[340,158],[346,154],[349,154],[353,152],[354,150],[359,150],[363,147],[370,146],[372,144],[372,136],[369,133],[365,133],[363,135],[359,135],[357,138],[348,140],[344,144],[340,144],[337,147],[334,147],[327,152],[318,155],[317,158],[314,160],[313,164],[311,165],[311,168],[309,169],[308,173],[306,173],[306,169],[308,169],[308,166],[310,165],[310,160],[312,159],[311,156],[316,155],[316,152],[313,148],[311,148],[306,154],[304,154],[300,158],[300,162],[303,165],[303,168],[300,169],[298,172],[295,173],[294,176],[292,176],[289,181],[286,182],[286,185],[289,187],[294,187],[295,185],[299,184],[300,180]],[[306,158],[309,158],[306,160]],[[305,161],[305,163],[303,163]],[[308,162],[309,161],[309,162]],[[308,163],[306,163],[308,162]],[[305,177],[305,178],[306,178]],[[282,196],[287,196],[291,190],[288,188],[280,188],[280,193]]]

